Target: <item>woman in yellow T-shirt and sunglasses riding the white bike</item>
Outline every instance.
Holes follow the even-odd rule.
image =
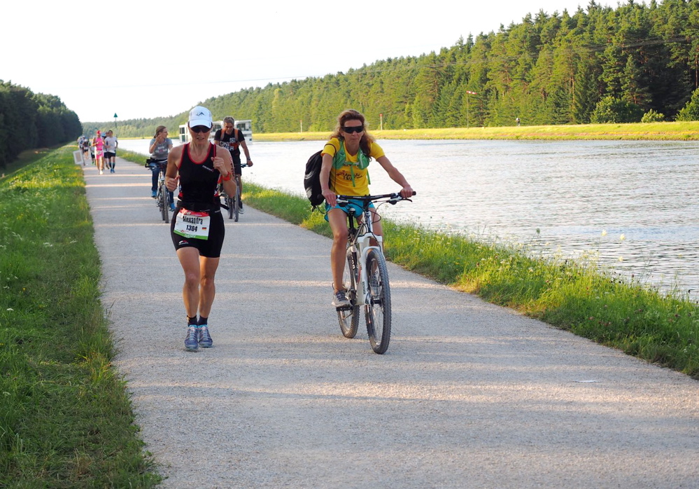
[[[346,290],[342,283],[347,247],[347,214],[362,217],[362,203],[350,200],[346,207],[337,205],[337,195],[370,195],[369,162],[376,160],[390,179],[402,188],[400,195],[409,198],[413,188],[386,158],[383,149],[369,135],[366,120],[362,113],[349,109],[337,117],[337,126],[330,135],[330,141],[323,147],[323,166],[320,167],[320,186],[325,198],[325,220],[332,230],[332,248],[330,249],[330,270],[332,270],[332,305],[341,308],[349,305]],[[328,180],[332,186],[328,186]],[[383,235],[381,217],[371,205],[374,233]]]

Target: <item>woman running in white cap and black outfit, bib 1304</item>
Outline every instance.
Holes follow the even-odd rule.
[[[222,181],[228,195],[236,191],[230,153],[209,142],[212,126],[209,109],[202,106],[192,109],[188,122],[191,142],[170,151],[165,172],[169,191],[180,185],[170,235],[185,272],[182,288],[188,326],[185,348],[190,351],[213,345],[209,314],[216,296],[214,277],[225,236],[216,188]]]

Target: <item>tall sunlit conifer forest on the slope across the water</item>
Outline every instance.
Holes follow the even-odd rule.
[[[257,132],[332,130],[352,107],[384,129],[699,119],[699,0],[539,11],[418,57],[202,102]],[[693,95],[695,95],[693,97]],[[162,119],[120,128],[155,128]],[[169,120],[176,128],[186,113]]]

